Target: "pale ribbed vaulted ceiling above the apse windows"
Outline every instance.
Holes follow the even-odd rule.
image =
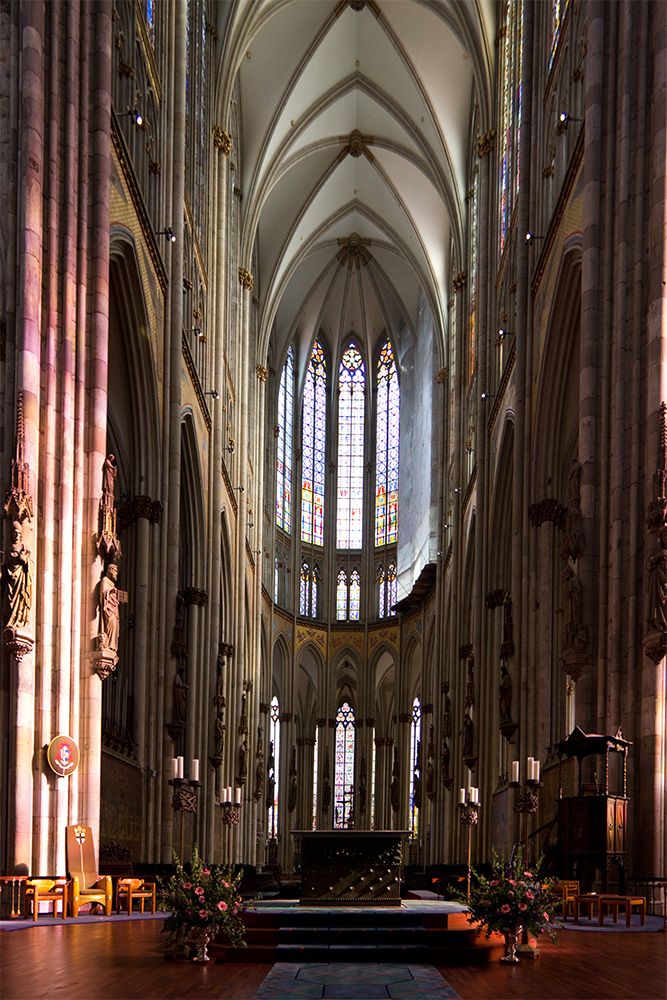
[[[470,150],[493,119],[493,0],[239,0],[218,96],[240,103],[242,263],[259,354],[322,331],[399,351],[419,309],[446,338]],[[476,117],[474,109],[477,107]],[[454,257],[454,260],[451,257]]]

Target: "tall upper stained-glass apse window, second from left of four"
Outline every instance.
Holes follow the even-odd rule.
[[[327,370],[322,345],[315,341],[303,388],[301,447],[301,540],[324,544],[324,457]]]

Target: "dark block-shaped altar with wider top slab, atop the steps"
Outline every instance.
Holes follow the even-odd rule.
[[[400,906],[409,830],[293,830],[302,906]]]

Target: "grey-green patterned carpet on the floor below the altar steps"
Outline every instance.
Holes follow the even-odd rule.
[[[432,965],[277,962],[252,1000],[458,1000]]]

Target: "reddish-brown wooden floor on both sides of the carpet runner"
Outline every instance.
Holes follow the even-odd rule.
[[[0,933],[2,1000],[250,1000],[270,965],[165,962],[159,920]],[[665,1000],[667,934],[562,931],[537,961],[448,967],[463,1000]]]

